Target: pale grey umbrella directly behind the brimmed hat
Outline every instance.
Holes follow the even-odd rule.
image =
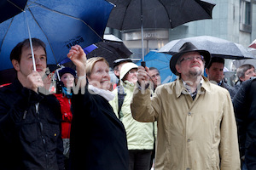
[[[192,42],[196,48],[209,51],[212,57],[223,57],[225,59],[254,59],[253,54],[247,51],[241,44],[211,36],[187,37],[173,40],[160,48],[158,52],[176,54],[184,42]]]

